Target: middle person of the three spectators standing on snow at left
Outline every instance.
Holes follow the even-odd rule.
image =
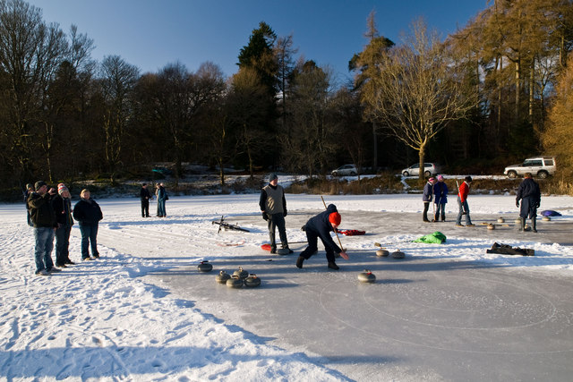
[[[52,199],[52,208],[56,213],[56,267],[74,264],[70,259],[70,232],[72,231],[72,200],[70,191],[64,183],[57,185],[57,195]]]

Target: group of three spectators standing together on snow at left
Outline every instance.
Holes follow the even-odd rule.
[[[58,267],[73,265],[70,259],[70,233],[74,219],[81,232],[81,259],[98,259],[98,223],[103,218],[98,203],[91,199],[89,190],[82,190],[80,201],[72,208],[72,197],[64,183],[55,188],[38,181],[34,187],[26,186],[25,202],[28,224],[34,228],[34,260],[36,275],[49,276],[60,272]],[[56,266],[52,260],[56,237]],[[91,250],[91,256],[90,256]]]

